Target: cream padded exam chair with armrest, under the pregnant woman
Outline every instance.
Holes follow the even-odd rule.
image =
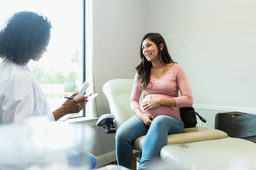
[[[134,115],[130,108],[130,96],[132,92],[133,79],[114,79],[106,82],[103,86],[103,92],[106,95],[111,114],[102,115],[97,121],[98,126],[106,128],[106,133],[115,133],[118,127],[126,120]],[[143,98],[141,95],[141,100]],[[205,127],[190,127],[185,128],[181,134],[168,135],[167,145],[170,144],[185,144],[198,141],[210,141],[227,138],[228,135],[220,130],[208,129]],[[145,136],[141,136],[133,144],[133,149],[142,152],[142,145]],[[161,150],[161,158],[166,159],[170,154],[169,150]],[[137,158],[137,163],[140,162],[140,157]]]

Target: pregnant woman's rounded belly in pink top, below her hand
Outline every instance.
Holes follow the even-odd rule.
[[[142,100],[141,105],[140,105],[140,110],[142,111],[142,113],[150,114],[150,115],[153,115],[154,117],[156,117],[158,115],[166,115],[166,116],[172,116],[172,117],[176,117],[176,118],[180,119],[180,109],[178,107],[159,106],[154,109],[150,109],[148,111],[144,110],[142,107],[142,104],[144,102],[147,102],[148,100],[150,100],[150,96],[170,98],[170,96],[165,95],[165,94],[148,94]]]

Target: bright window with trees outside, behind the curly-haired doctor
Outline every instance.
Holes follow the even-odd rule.
[[[0,23],[18,11],[44,14],[52,23],[47,52],[28,66],[41,84],[53,111],[85,80],[85,0],[8,0],[0,6]],[[1,28],[4,25],[1,25]],[[72,117],[85,116],[83,111]]]

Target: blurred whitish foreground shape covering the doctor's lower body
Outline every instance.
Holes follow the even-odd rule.
[[[91,127],[30,117],[0,126],[0,170],[88,170]]]

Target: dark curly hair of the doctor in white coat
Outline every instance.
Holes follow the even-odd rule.
[[[16,64],[35,59],[48,45],[51,22],[34,12],[16,12],[0,31],[0,58]]]

